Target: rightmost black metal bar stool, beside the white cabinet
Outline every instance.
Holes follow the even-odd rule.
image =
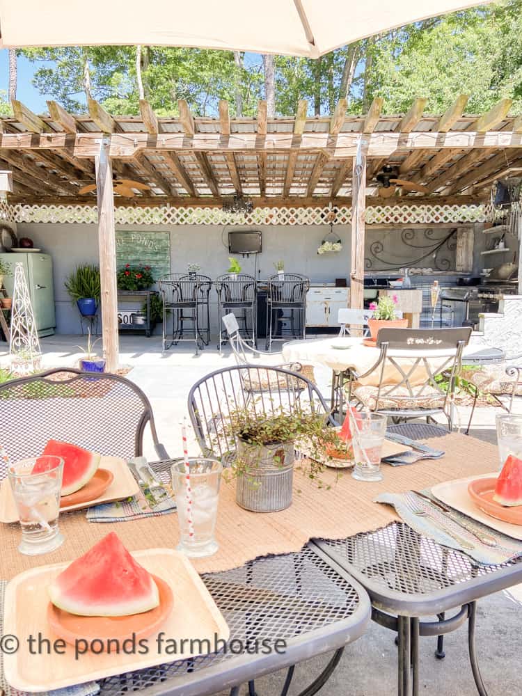
[[[306,293],[309,287],[310,280],[296,273],[270,276],[267,296],[267,350],[271,349],[274,340],[285,340],[288,336],[306,337]],[[290,329],[283,335],[285,322],[290,322]]]

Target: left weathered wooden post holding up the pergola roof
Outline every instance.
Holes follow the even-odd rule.
[[[110,136],[103,136],[100,154],[95,157],[98,206],[98,247],[102,301],[102,342],[107,372],[118,369],[118,292],[116,289],[116,232],[114,193],[109,158]]]

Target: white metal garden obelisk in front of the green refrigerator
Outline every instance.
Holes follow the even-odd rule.
[[[11,370],[20,377],[24,374],[32,374],[40,368],[42,352],[40,351],[29,287],[27,287],[24,267],[21,263],[17,263],[15,267],[10,333]]]

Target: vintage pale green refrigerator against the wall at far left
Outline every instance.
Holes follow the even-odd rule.
[[[15,265],[21,263],[29,287],[31,304],[38,335],[50,336],[56,329],[54,315],[53,262],[49,254],[39,251],[0,254],[0,259],[11,266],[11,274],[4,276],[3,285],[10,297],[13,296]]]

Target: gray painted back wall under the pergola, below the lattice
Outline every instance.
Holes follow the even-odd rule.
[[[274,262],[285,261],[287,271],[296,271],[315,283],[333,282],[335,278],[348,278],[350,267],[350,230],[347,226],[334,228],[340,237],[343,249],[340,253],[317,255],[317,246],[329,232],[329,226],[260,226],[258,228],[221,227],[209,225],[186,226],[118,226],[121,230],[168,230],[171,234],[171,272],[183,272],[187,263],[198,262],[202,272],[216,278],[228,269],[228,231],[240,229],[260,229],[262,231],[263,251],[258,257],[258,278],[266,278],[274,273]],[[54,297],[56,302],[56,333],[79,333],[77,308],[72,305],[65,291],[63,281],[77,264],[98,262],[97,226],[83,223],[47,224],[18,223],[19,237],[31,237],[35,246],[50,253],[54,263]],[[423,231],[416,230],[419,239]],[[443,231],[437,230],[436,236]],[[475,235],[482,243],[483,235]],[[367,230],[367,249],[372,242],[381,241],[385,255],[393,251],[394,258],[408,262],[419,255],[417,248],[405,246],[400,241],[400,230]],[[475,262],[480,264],[482,257],[475,250]],[[450,253],[454,260],[454,252]],[[239,258],[245,273],[253,274],[254,258]],[[432,266],[427,259],[420,266]],[[377,263],[375,264],[377,266]],[[380,266],[380,264],[379,264]],[[454,267],[454,266],[453,266]],[[479,266],[480,267],[480,266]],[[215,294],[211,294],[215,305]],[[211,315],[216,316],[215,308]],[[216,326],[216,321],[214,321]]]

